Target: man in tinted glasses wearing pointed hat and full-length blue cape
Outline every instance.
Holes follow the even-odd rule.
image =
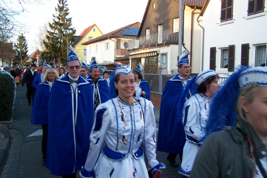
[[[49,96],[46,166],[51,174],[62,177],[76,177],[89,151],[93,91],[89,82],[79,76],[80,67],[74,49],[69,46],[69,73],[55,80]],[[63,107],[58,106],[58,101]]]

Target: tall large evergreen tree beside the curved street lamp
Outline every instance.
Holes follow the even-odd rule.
[[[62,63],[66,64],[67,61],[67,40],[69,44],[74,42],[74,34],[76,30],[71,28],[71,18],[67,18],[69,15],[69,8],[67,0],[58,0],[58,5],[55,8],[56,15],[53,14],[53,22],[48,23],[50,31],[47,31],[46,38],[48,42],[43,41],[45,48],[49,52],[43,52],[42,56],[46,57],[46,60],[52,61],[55,58],[55,63],[58,65]],[[63,36],[66,39],[54,34]],[[49,57],[48,57],[49,56]]]

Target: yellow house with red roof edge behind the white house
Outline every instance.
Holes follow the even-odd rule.
[[[73,48],[75,49],[75,53],[77,54],[79,60],[86,61],[86,46],[82,45],[82,43],[87,42],[91,39],[94,39],[98,36],[103,35],[96,24],[91,25],[88,28],[85,28],[79,36],[74,36],[75,45]]]

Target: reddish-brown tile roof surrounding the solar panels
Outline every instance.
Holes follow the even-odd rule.
[[[128,35],[123,35],[120,33],[120,31],[123,31],[123,29],[126,29],[128,27],[136,27],[136,28],[140,28],[140,25],[141,23],[140,22],[135,22],[135,23],[132,23],[130,25],[127,25],[127,26],[124,26],[122,28],[119,28],[117,30],[114,30],[112,32],[109,32],[107,34],[104,34],[102,36],[98,36],[97,38],[94,38],[94,39],[91,39],[90,41],[87,41],[87,42],[84,42],[82,43],[82,45],[88,45],[90,43],[93,43],[93,42],[96,42],[96,41],[101,41],[101,39],[106,39],[108,38],[109,36],[122,36],[122,37],[133,37],[133,36],[128,36]],[[136,36],[134,36],[136,37]]]

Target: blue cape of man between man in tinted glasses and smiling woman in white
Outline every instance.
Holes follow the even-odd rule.
[[[92,87],[93,98],[95,97],[95,92],[93,92],[93,91],[97,87],[100,104],[104,103],[110,99],[109,86],[107,84],[106,79],[99,77],[98,82],[97,82],[97,86],[94,85],[94,82],[93,82],[90,74],[84,79],[87,80],[90,83],[90,86]]]

